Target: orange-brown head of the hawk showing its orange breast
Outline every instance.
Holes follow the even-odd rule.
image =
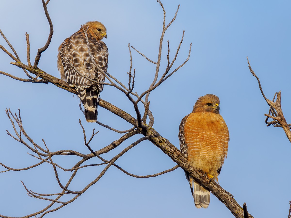
[[[214,94],[206,94],[199,97],[194,104],[192,112],[213,112],[219,114],[219,97]]]

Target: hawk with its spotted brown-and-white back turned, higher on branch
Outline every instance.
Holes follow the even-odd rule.
[[[87,36],[92,59],[100,69],[107,72],[108,49],[106,44],[101,41],[103,37],[107,38],[105,26],[98,21],[91,21],[84,24],[83,27],[85,31],[88,27]],[[58,51],[58,69],[62,80],[76,89],[84,105],[87,122],[96,122],[97,106],[103,84],[97,84],[82,76],[97,82],[104,82],[105,76],[95,67],[89,56],[83,28],[66,38]]]

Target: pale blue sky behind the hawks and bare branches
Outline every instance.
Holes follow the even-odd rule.
[[[166,40],[170,41],[172,59],[182,31],[184,41],[177,61],[187,64],[150,94],[150,109],[155,117],[154,128],[179,147],[178,128],[181,119],[192,111],[198,97],[207,93],[220,98],[221,115],[230,133],[228,158],[219,176],[220,185],[233,194],[237,202],[247,203],[254,217],[287,217],[291,200],[291,144],[283,129],[266,127],[264,114],[269,107],[248,69],[246,56],[260,78],[267,98],[281,90],[282,108],[291,122],[290,102],[290,1],[162,1],[166,23],[180,9],[175,22],[166,32],[160,72],[166,67]],[[40,0],[0,2],[0,28],[26,63],[25,32],[31,42],[31,60],[47,41],[49,25]],[[108,72],[127,84],[130,43],[148,58],[157,60],[163,12],[150,1],[57,1],[51,0],[48,11],[54,25],[49,48],[42,53],[39,67],[60,78],[56,65],[58,46],[76,32],[81,24],[98,20],[107,27],[104,39],[109,49]],[[7,49],[1,38],[0,44]],[[155,65],[132,50],[136,68],[135,91],[142,93],[153,80]],[[13,61],[0,52],[0,70],[25,78],[24,72],[10,65]],[[50,151],[72,149],[89,153],[79,118],[90,135],[100,131],[91,147],[98,150],[121,137],[97,124],[86,123],[73,94],[52,84],[33,84],[0,75],[0,162],[13,168],[36,164],[38,160],[22,144],[6,134],[13,128],[6,108],[22,112],[26,132],[36,143],[46,141]],[[101,98],[134,115],[132,105],[120,91],[105,86]],[[129,124],[99,107],[98,120],[113,128],[125,130]],[[135,138],[137,139],[137,137]],[[121,144],[104,158],[110,159],[133,140]],[[79,159],[55,158],[70,168]],[[99,162],[97,159],[90,163]],[[117,162],[127,171],[148,175],[169,169],[175,163],[150,142],[142,142]],[[81,190],[94,180],[103,168],[81,169],[70,186]],[[3,167],[0,170],[4,170]],[[70,173],[59,170],[65,182]],[[29,171],[0,174],[0,214],[24,216],[36,212],[49,202],[26,195],[26,186],[38,193],[60,192],[51,165],[44,164]],[[184,171],[179,168],[155,178],[138,179],[114,167],[76,201],[45,217],[233,217],[230,211],[211,194],[210,206],[197,209]]]

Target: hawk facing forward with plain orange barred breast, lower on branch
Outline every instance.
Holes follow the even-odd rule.
[[[180,149],[192,167],[217,180],[227,156],[229,133],[219,114],[219,98],[213,94],[199,97],[191,114],[184,117],[179,128]],[[210,191],[186,171],[196,208],[207,208]]]

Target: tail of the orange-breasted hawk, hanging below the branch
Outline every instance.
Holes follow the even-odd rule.
[[[189,183],[196,208],[208,208],[210,191],[199,182],[196,182],[192,176],[189,176]]]

